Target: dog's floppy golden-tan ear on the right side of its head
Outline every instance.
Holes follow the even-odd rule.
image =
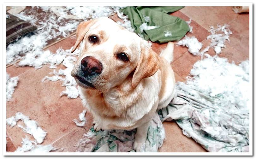
[[[140,60],[132,79],[133,88],[140,83],[141,79],[152,76],[159,69],[159,56],[151,49],[147,42],[143,41],[140,47]]]

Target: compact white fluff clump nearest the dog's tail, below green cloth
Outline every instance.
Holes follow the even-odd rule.
[[[185,36],[185,38],[178,41],[176,45],[186,46],[188,48],[188,51],[196,56],[200,55],[199,50],[203,47],[203,44],[200,43],[194,36]]]

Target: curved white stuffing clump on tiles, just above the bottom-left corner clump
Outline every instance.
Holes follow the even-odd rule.
[[[25,127],[18,125],[24,132],[31,134],[37,141],[41,144],[46,136],[46,132],[39,127],[38,123],[32,119],[29,119],[26,115],[23,115],[21,112],[17,112],[15,116],[12,116],[6,119],[7,125],[14,127],[17,124],[17,121],[22,120],[25,124]]]

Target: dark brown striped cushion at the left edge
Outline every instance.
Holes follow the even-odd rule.
[[[14,42],[16,39],[33,32],[37,27],[27,21],[6,12],[6,45]]]

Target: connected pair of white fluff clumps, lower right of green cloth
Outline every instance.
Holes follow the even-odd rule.
[[[210,26],[211,35],[207,36],[206,39],[211,39],[211,44],[209,44],[207,47],[205,47],[204,50],[200,51],[203,44],[200,43],[194,36],[192,37],[185,37],[185,39],[182,39],[177,42],[177,45],[182,45],[188,47],[188,51],[192,53],[195,56],[201,56],[203,58],[203,55],[205,52],[207,52],[210,48],[213,48],[216,54],[220,54],[222,48],[225,48],[225,42],[226,40],[229,41],[229,35],[232,34],[232,32],[229,30],[228,25],[224,24],[223,26],[217,25],[217,28],[215,29],[213,26]]]

